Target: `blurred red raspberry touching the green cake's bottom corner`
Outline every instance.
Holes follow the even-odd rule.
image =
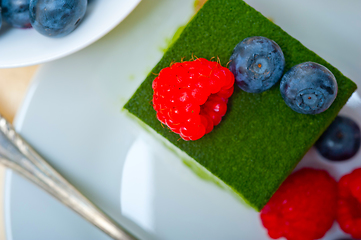
[[[322,238],[336,218],[337,184],[324,170],[291,174],[261,211],[268,235],[277,239]]]

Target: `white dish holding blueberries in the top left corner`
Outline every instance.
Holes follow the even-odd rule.
[[[92,0],[79,27],[62,38],[4,25],[0,30],[0,68],[40,64],[79,51],[112,30],[140,1]]]

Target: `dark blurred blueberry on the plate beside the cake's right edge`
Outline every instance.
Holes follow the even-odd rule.
[[[338,116],[315,144],[318,152],[331,161],[344,161],[360,148],[360,128],[350,118]]]

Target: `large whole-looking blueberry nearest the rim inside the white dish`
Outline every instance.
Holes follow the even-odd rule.
[[[87,0],[30,0],[30,21],[48,37],[71,33],[83,19]]]

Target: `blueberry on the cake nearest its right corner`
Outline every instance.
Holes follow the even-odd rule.
[[[292,67],[282,77],[280,91],[286,104],[303,114],[327,110],[337,95],[335,76],[326,67],[305,62]]]

